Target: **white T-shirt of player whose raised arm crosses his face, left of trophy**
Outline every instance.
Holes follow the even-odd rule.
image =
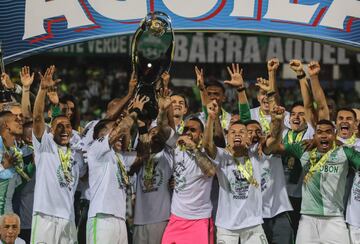
[[[125,220],[126,186],[119,160],[126,171],[134,163],[136,152],[115,153],[109,136],[93,141],[87,148],[89,166],[90,207],[88,217],[110,214]]]

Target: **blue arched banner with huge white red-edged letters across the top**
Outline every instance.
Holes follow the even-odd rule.
[[[2,0],[5,62],[133,33],[150,11],[167,13],[175,30],[287,35],[360,48],[358,0]]]

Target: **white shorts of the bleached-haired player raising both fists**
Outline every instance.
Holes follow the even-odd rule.
[[[267,244],[265,232],[261,225],[241,230],[227,230],[217,227],[217,244]]]

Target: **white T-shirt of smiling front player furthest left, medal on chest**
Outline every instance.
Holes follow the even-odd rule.
[[[67,180],[58,153],[66,148],[57,145],[46,131],[41,141],[33,134],[32,142],[36,165],[33,212],[74,221],[74,194],[79,176],[85,173],[81,153],[71,149],[71,179]]]

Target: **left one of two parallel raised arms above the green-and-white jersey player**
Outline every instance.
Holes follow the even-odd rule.
[[[313,97],[311,95],[311,90],[309,83],[306,79],[306,74],[303,68],[303,65],[300,60],[291,60],[290,68],[296,73],[297,79],[300,83],[300,91],[301,96],[304,102],[304,109],[305,109],[305,118],[308,123],[310,123],[313,127],[315,127],[316,124],[316,114],[313,104]]]

